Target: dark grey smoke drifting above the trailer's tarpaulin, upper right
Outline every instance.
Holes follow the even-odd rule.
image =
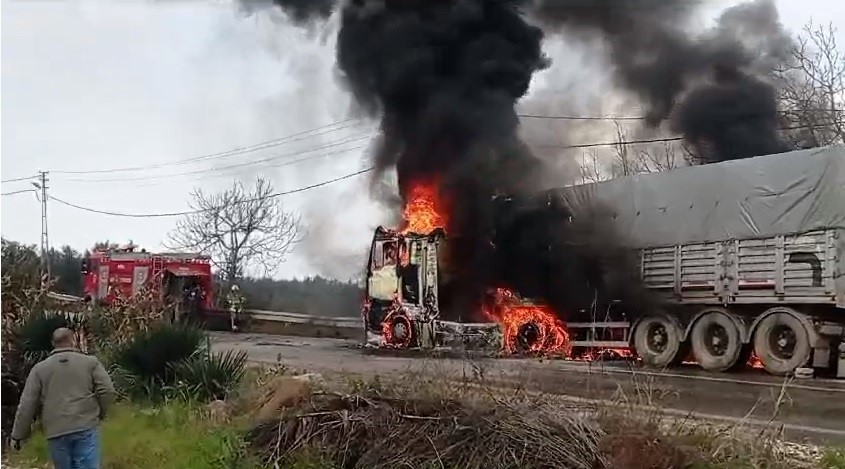
[[[689,23],[703,3],[536,0],[532,14],[548,28],[604,40],[617,83],[646,105],[646,123],[673,118],[673,130],[703,152],[703,162],[785,151],[765,76],[792,40],[773,1],[729,8],[715,27],[694,35]]]

